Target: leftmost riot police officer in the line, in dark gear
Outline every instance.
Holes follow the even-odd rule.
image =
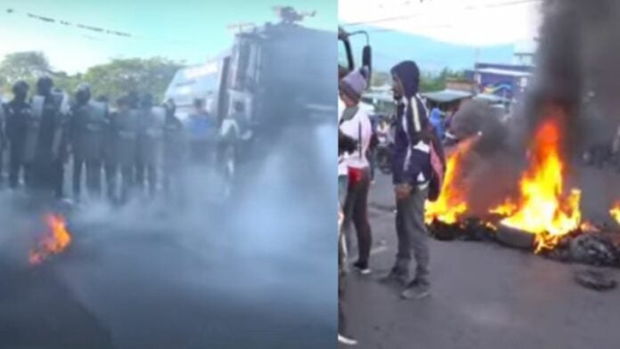
[[[20,80],[12,86],[13,99],[4,106],[6,112],[6,139],[9,143],[9,185],[12,189],[20,183],[23,170],[24,181],[29,183],[29,162],[24,158],[26,134],[31,123],[32,111],[27,101],[29,85]]]

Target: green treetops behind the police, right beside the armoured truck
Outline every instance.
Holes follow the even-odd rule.
[[[84,81],[95,95],[118,97],[130,91],[151,93],[161,101],[167,85],[181,64],[164,58],[115,59],[110,63],[94,66],[84,74]]]

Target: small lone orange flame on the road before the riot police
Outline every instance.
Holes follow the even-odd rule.
[[[64,251],[71,243],[71,235],[61,215],[46,215],[47,231],[39,240],[37,248],[30,250],[29,264],[41,264],[45,258]]]

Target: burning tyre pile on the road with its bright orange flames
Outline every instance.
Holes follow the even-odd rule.
[[[565,186],[567,165],[560,151],[563,113],[557,106],[545,109],[547,118],[528,149],[517,193],[488,208],[483,217],[473,217],[469,210],[472,193],[465,168],[477,139],[457,145],[448,156],[441,196],[427,203],[426,223],[436,239],[499,241],[562,261],[620,266],[620,240],[612,239],[617,234],[583,221],[581,191]],[[610,212],[616,217],[619,211]]]

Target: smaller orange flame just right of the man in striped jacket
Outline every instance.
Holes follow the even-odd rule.
[[[434,220],[453,224],[468,210],[467,195],[469,187],[466,185],[462,174],[463,162],[469,154],[469,150],[476,143],[477,138],[470,138],[457,145],[446,159],[445,178],[441,188],[441,194],[435,202],[426,203],[424,220],[427,224]]]

